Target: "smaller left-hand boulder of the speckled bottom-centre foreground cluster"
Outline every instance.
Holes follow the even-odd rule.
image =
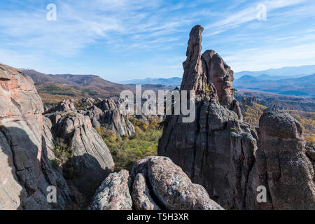
[[[112,173],[95,193],[91,210],[132,210],[131,179],[127,170]]]

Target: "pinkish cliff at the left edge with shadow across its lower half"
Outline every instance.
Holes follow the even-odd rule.
[[[53,169],[43,137],[43,104],[22,71],[0,64],[0,209],[66,209],[71,193]],[[48,203],[48,186],[57,204]]]

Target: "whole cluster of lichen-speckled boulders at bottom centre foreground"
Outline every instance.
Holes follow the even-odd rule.
[[[133,207],[132,207],[132,204]],[[90,209],[221,210],[207,191],[190,181],[182,169],[165,157],[147,157],[126,170],[110,174],[94,195]]]

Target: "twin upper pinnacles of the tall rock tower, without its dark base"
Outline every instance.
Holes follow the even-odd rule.
[[[204,28],[200,25],[190,31],[181,90],[195,90],[197,96],[205,97],[214,86],[220,104],[235,111],[242,119],[232,91],[233,71],[214,50],[202,54],[202,31]]]

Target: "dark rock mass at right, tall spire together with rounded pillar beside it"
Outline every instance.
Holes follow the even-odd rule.
[[[197,25],[190,32],[181,84],[181,90],[195,90],[196,119],[182,123],[183,116],[167,116],[158,155],[171,158],[226,209],[314,208],[314,166],[307,158],[311,153],[305,154],[300,124],[290,116],[264,115],[258,140],[255,130],[242,122],[230,67],[214,50],[201,55],[202,31]],[[287,129],[292,132],[288,136]],[[258,205],[260,185],[271,196]]]

